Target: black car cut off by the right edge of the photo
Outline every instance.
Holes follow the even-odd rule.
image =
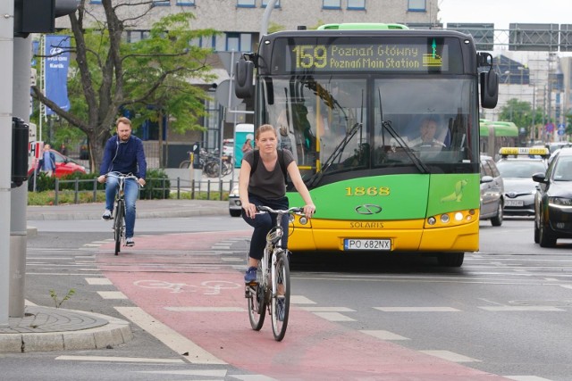
[[[572,147],[554,153],[546,172],[535,173],[534,242],[553,247],[559,238],[572,238]]]

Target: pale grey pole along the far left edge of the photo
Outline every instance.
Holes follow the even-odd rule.
[[[0,1],[0,327],[8,326],[10,299],[10,187],[12,176],[13,1]]]

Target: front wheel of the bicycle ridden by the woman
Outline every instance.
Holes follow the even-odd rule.
[[[274,340],[282,341],[288,327],[288,317],[290,315],[290,263],[288,262],[288,251],[281,250],[276,253],[276,263],[274,264],[273,295],[271,302],[272,311],[272,331]]]

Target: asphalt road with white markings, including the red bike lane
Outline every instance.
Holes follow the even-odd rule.
[[[572,379],[572,241],[540,248],[531,219],[507,219],[500,228],[482,222],[481,251],[459,269],[391,254],[294,258],[296,308],[281,344],[269,324],[258,333],[249,328],[240,288],[216,294],[208,283],[240,284],[248,238],[241,219],[138,219],[135,249],[119,259],[101,224],[38,226],[28,244],[27,298],[50,305],[49,289],[75,288],[64,307],[121,319],[142,309],[176,332],[171,339],[189,338],[221,363],[208,363],[205,352],[193,362],[192,353],[173,351],[136,314],[129,344],[0,357],[10,379]],[[169,248],[156,250],[161,242]],[[113,284],[86,281],[104,277]],[[146,280],[160,286],[146,288]],[[105,292],[126,299],[105,299]],[[196,309],[207,305],[219,310]],[[396,354],[408,366],[396,369]]]

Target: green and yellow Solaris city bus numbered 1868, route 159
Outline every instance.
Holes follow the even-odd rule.
[[[498,78],[472,37],[399,24],[281,31],[242,55],[234,81],[254,98],[255,126],[283,132],[316,204],[290,229],[290,251],[430,253],[460,266],[478,250],[479,107],[496,105]]]

